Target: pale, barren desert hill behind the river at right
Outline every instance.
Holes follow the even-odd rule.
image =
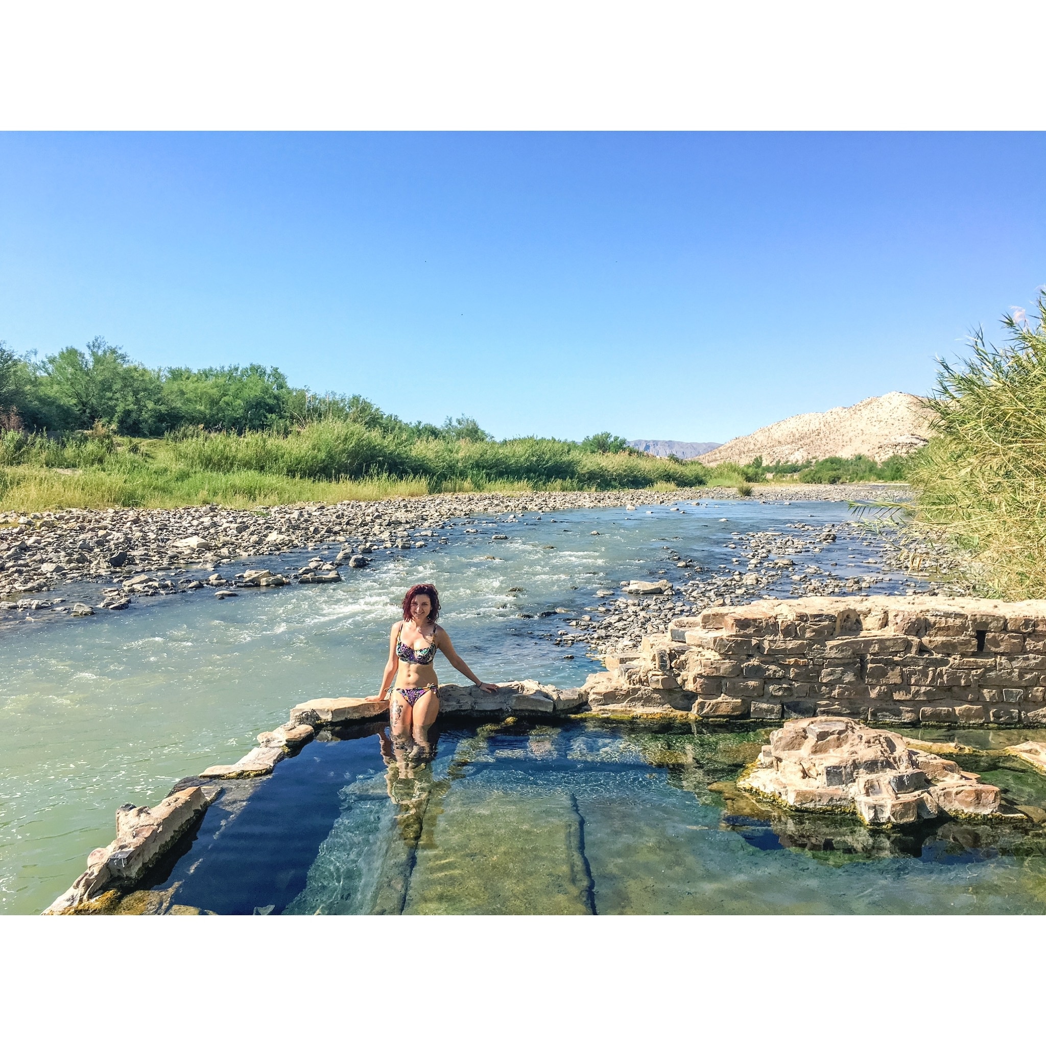
[[[855,454],[885,461],[891,454],[908,454],[922,447],[930,437],[931,416],[918,396],[887,392],[852,407],[787,417],[702,454],[701,461],[748,464],[761,457],[765,464],[772,464]]]

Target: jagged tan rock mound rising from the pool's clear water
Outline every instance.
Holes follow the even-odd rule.
[[[991,817],[1001,804],[998,788],[951,759],[911,748],[899,733],[828,717],[775,730],[738,784],[792,810],[856,813],[865,824]]]

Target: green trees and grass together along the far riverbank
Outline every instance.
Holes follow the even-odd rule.
[[[892,459],[891,459],[892,461]],[[96,338],[40,363],[0,343],[0,508],[165,507],[455,491],[672,490],[902,478],[867,458],[722,464],[600,432],[496,440],[472,418],[404,422],[256,364],[150,370]]]

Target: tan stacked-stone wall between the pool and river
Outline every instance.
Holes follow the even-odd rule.
[[[832,597],[704,611],[610,655],[593,710],[1046,726],[1046,600]]]

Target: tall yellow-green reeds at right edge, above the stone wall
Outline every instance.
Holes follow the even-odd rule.
[[[950,535],[1010,598],[1046,597],[1046,292],[1006,344],[978,331],[973,355],[940,364],[933,438],[912,461],[915,518]]]

